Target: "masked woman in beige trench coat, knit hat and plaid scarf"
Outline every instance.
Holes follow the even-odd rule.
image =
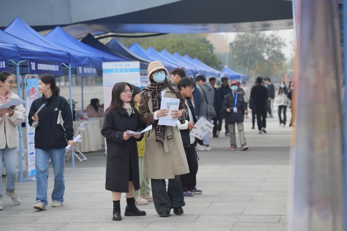
[[[172,110],[173,118],[183,123],[187,115],[184,99],[168,83],[168,75],[161,62],[154,61],[148,65],[151,84],[142,92],[139,107],[140,120],[153,125],[153,129],[145,134],[145,173],[151,179],[154,206],[161,217],[169,217],[172,208],[174,214],[183,214],[185,203],[179,176],[189,173],[178,128],[158,125],[158,119],[168,114],[167,110],[160,110],[162,97],[180,99],[178,110]],[[165,179],[169,179],[168,190]]]

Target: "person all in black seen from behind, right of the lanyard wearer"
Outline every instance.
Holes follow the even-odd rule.
[[[262,82],[263,78],[258,77],[257,84],[251,90],[251,99],[257,115],[259,134],[266,133],[266,100],[269,98],[268,90],[262,85]]]

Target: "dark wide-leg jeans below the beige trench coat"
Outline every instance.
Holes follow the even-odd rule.
[[[169,211],[173,207],[185,205],[183,190],[179,176],[169,179],[168,190],[164,179],[151,179],[154,207],[158,214]]]

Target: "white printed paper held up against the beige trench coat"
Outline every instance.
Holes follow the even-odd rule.
[[[160,109],[167,109],[168,115],[164,117],[160,117],[158,124],[166,125],[166,126],[176,126],[178,118],[173,119],[172,110],[178,110],[179,108],[179,99],[178,98],[168,98],[162,97],[162,103],[160,105]]]

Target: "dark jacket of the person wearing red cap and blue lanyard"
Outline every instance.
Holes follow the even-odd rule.
[[[247,104],[243,99],[243,95],[237,94],[237,113],[233,112],[233,107],[235,105],[235,99],[231,93],[227,94],[224,97],[223,101],[223,111],[226,113],[225,120],[227,124],[232,123],[242,123],[244,117],[244,111],[247,109]],[[230,112],[227,112],[227,109],[230,108]]]

